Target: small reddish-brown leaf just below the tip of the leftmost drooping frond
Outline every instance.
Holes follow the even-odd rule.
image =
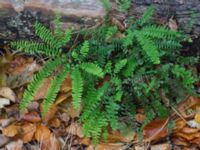
[[[37,112],[29,112],[23,116],[23,119],[28,122],[37,123],[41,121],[41,117]]]

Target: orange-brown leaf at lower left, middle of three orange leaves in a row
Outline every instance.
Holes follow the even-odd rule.
[[[21,128],[23,130],[21,134],[23,142],[24,143],[30,142],[34,137],[34,134],[36,131],[36,125],[32,123],[27,123],[27,124],[24,124]]]

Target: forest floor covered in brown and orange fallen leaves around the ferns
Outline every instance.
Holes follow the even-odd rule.
[[[198,41],[196,42],[198,43]],[[196,55],[199,45],[185,45],[183,53]],[[193,51],[189,51],[193,49]],[[38,58],[37,58],[38,59]],[[72,107],[71,79],[64,81],[50,112],[42,118],[41,102],[47,92],[47,80],[35,95],[26,112],[19,102],[27,83],[42,67],[37,59],[13,53],[1,47],[0,56],[0,150],[197,150],[200,148],[200,98],[188,95],[165,119],[147,124],[143,138],[134,128],[126,133],[110,131],[107,142],[94,146],[83,136],[78,122],[81,110]],[[199,73],[197,66],[197,73]],[[198,85],[197,85],[198,86]],[[200,89],[197,87],[197,92]],[[137,109],[135,120],[142,124],[145,115]],[[169,127],[169,121],[174,124]],[[169,130],[170,129],[170,130]]]

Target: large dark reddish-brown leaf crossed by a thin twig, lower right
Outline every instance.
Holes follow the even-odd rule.
[[[169,119],[155,119],[143,129],[144,139],[147,141],[158,141],[167,136],[167,123]]]

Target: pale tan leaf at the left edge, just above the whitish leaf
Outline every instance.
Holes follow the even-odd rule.
[[[12,102],[16,101],[16,95],[13,92],[12,89],[10,89],[9,87],[2,87],[0,88],[0,96],[11,100]]]

